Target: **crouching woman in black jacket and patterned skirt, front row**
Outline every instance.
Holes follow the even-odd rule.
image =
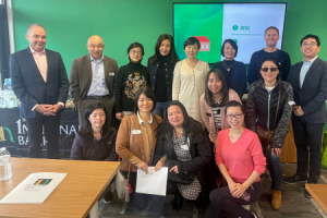
[[[180,101],[170,101],[167,106],[167,117],[158,126],[154,164],[155,170],[160,170],[162,166],[168,167],[167,193],[174,194],[173,210],[181,209],[183,198],[198,198],[204,187],[199,171],[210,158],[208,141],[202,124],[189,117]]]

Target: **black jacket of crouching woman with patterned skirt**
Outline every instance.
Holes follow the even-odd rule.
[[[196,175],[199,175],[198,171],[203,170],[203,168],[211,159],[209,142],[204,133],[198,133],[196,135],[189,135],[189,137],[190,137],[190,153],[191,153],[192,160],[179,161],[178,164],[179,173],[185,173],[185,174],[194,173]],[[172,146],[173,143],[170,135],[167,134],[158,138],[156,149],[155,149],[155,155],[154,155],[154,166],[165,155],[167,155],[167,161],[178,160]]]

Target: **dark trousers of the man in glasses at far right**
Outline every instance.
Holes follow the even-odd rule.
[[[307,179],[307,183],[318,183],[322,171],[320,149],[325,123],[307,123],[303,117],[296,117],[292,120],[292,125],[298,155],[296,173],[302,179]]]

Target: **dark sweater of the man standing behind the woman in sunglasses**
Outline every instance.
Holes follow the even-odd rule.
[[[255,51],[250,61],[247,70],[247,82],[251,85],[253,82],[262,78],[261,69],[263,60],[267,57],[270,57],[278,61],[280,64],[279,77],[282,81],[287,81],[290,69],[291,69],[291,59],[290,56],[282,50],[277,49],[274,52],[266,52],[264,49]]]

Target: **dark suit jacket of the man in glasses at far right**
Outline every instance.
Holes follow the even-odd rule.
[[[303,61],[292,65],[288,82],[294,92],[294,101],[301,106],[307,123],[325,123],[327,100],[327,62],[317,58],[308,69],[301,88],[300,72]],[[292,119],[295,116],[292,114]]]

